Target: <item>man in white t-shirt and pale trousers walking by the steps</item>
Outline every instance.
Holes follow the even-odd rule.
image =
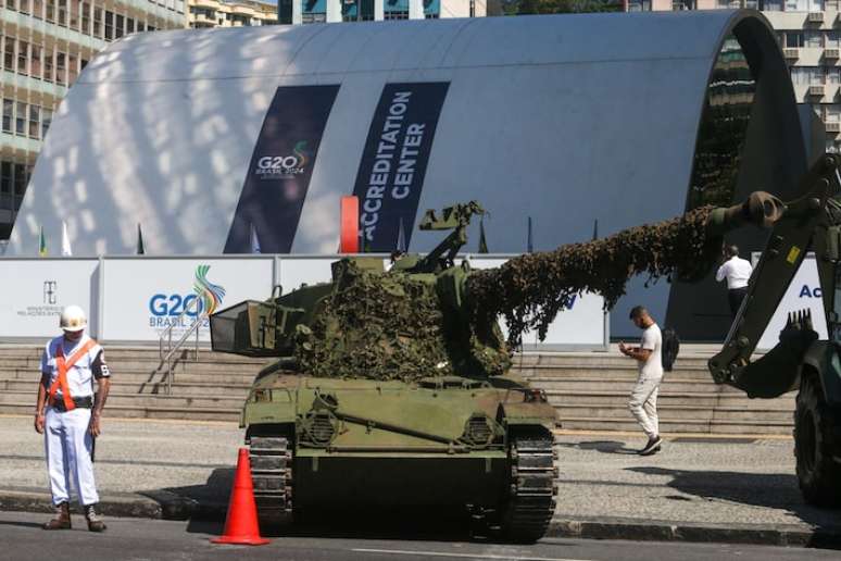
[[[658,452],[663,444],[657,420],[657,391],[663,381],[661,360],[663,337],[660,327],[642,306],[633,307],[630,320],[633,325],[642,329],[642,339],[639,347],[628,347],[619,341],[619,352],[637,361],[639,376],[631,391],[628,409],[649,437],[649,441],[638,453],[651,456]]]

